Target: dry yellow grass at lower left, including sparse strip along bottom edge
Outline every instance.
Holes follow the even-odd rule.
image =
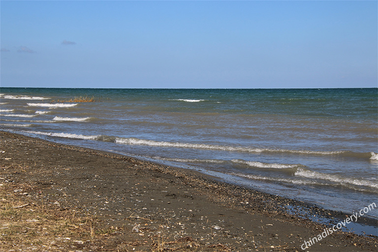
[[[101,225],[97,217],[72,208],[46,204],[31,185],[0,184],[0,251],[200,251],[200,245],[191,237],[173,241],[164,236],[121,239],[109,246],[108,239],[122,229]]]

